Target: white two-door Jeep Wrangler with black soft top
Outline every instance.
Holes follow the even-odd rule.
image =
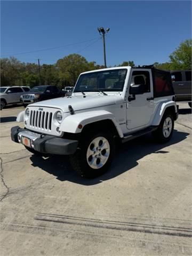
[[[22,111],[11,138],[37,155],[70,155],[73,168],[94,178],[106,172],[116,141],[152,132],[170,140],[178,108],[169,72],[153,66],[82,73],[73,94],[33,103]]]

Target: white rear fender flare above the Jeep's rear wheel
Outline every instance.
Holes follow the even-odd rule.
[[[156,110],[156,113],[155,113],[155,116],[154,116],[154,119],[153,119],[153,122],[151,125],[154,125],[154,126],[159,125],[161,122],[161,119],[165,113],[165,110],[168,107],[172,107],[172,106],[175,109],[175,113],[177,113],[177,105],[174,101],[169,100],[169,101],[159,103],[159,106],[157,107],[157,110]]]

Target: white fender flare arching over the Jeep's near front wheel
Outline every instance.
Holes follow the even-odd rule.
[[[60,125],[60,131],[69,133],[81,133],[82,129],[78,128],[79,124],[84,127],[87,124],[92,124],[107,119],[114,123],[119,137],[123,138],[121,127],[117,123],[115,116],[106,110],[89,111],[67,116]]]

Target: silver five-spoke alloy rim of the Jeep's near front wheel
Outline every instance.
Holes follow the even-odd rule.
[[[92,169],[100,169],[106,164],[110,154],[110,145],[106,138],[95,138],[87,148],[86,159]]]

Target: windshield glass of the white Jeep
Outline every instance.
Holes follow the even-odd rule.
[[[103,70],[82,74],[74,92],[123,91],[127,69]]]

